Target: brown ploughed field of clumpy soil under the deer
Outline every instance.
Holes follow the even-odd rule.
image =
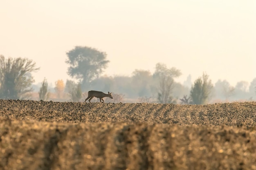
[[[0,169],[256,170],[256,102],[0,100]]]

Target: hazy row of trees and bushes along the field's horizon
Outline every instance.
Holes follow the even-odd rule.
[[[182,75],[177,68],[167,68],[163,63],[155,65],[153,74],[148,70],[135,70],[131,77],[127,76],[101,76],[107,68],[109,61],[106,52],[95,48],[76,46],[66,53],[66,63],[69,65],[67,74],[76,79],[78,83],[67,80],[55,82],[55,92],[58,98],[67,92],[72,101],[80,101],[83,92],[91,89],[99,91],[112,91],[115,102],[126,98],[138,98],[140,102],[207,104],[212,97],[214,85],[209,75],[203,73],[190,87],[175,82],[175,78]],[[38,71],[36,63],[26,58],[8,58],[0,56],[0,98],[25,99],[33,91],[34,83],[32,72]],[[189,79],[188,79],[189,82]],[[252,82],[256,93],[256,78]],[[215,86],[221,86],[221,93],[226,99],[234,95],[235,87],[227,81],[218,81]],[[242,88],[243,83],[240,85]],[[250,86],[251,88],[251,86]],[[220,88],[218,88],[220,89]],[[250,89],[252,90],[252,89]],[[38,92],[39,100],[49,98],[47,79],[44,78]],[[181,98],[180,96],[183,96]],[[110,102],[112,102],[110,100]]]

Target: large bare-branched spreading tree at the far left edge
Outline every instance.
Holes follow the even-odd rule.
[[[0,55],[0,98],[22,99],[32,92],[36,63],[27,58],[8,58]]]

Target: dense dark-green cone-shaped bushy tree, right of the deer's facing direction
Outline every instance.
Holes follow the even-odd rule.
[[[203,73],[202,77],[195,80],[191,87],[190,98],[195,105],[203,105],[209,100],[213,85],[211,80],[208,81],[209,76]]]

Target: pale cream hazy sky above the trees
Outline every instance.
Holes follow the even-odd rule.
[[[231,85],[256,77],[255,0],[2,0],[0,24],[0,54],[33,59],[36,83],[69,78],[74,46],[106,52],[109,76],[161,62],[181,83],[203,72]]]

